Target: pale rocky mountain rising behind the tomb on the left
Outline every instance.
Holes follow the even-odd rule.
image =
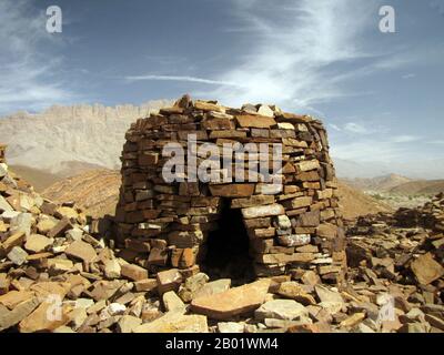
[[[0,119],[0,142],[9,145],[11,165],[62,176],[98,168],[118,169],[130,124],[171,104],[157,100],[140,106],[56,105],[37,114],[18,112]]]

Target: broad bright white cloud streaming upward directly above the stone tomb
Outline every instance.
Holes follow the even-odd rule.
[[[245,28],[253,31],[251,47],[240,53],[234,65],[218,75],[218,81],[238,83],[212,92],[233,105],[244,102],[273,102],[289,109],[306,109],[315,103],[349,94],[331,72],[333,64],[349,63],[367,54],[360,47],[360,34],[366,29],[373,1],[302,0],[243,1],[235,11]],[[285,8],[283,11],[282,9]],[[336,73],[335,73],[336,74]]]

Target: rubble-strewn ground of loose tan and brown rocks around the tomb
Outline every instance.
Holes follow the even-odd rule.
[[[112,247],[105,222],[0,164],[0,331],[444,332],[442,194],[349,222],[350,270],[336,286],[303,270],[236,287],[198,267],[151,277]]]

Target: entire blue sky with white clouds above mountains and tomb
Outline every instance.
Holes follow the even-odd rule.
[[[51,4],[62,33],[46,32]],[[0,2],[0,114],[185,92],[276,103],[323,119],[335,158],[405,174],[444,178],[443,63],[444,0]]]

